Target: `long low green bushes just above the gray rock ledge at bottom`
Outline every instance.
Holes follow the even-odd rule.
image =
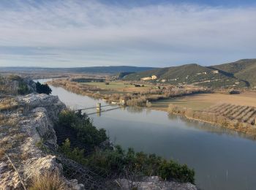
[[[166,161],[155,154],[135,153],[132,148],[129,148],[127,153],[120,146],[116,146],[114,151],[97,151],[89,156],[88,160],[89,166],[101,167],[108,173],[116,172],[121,175],[129,168],[141,175],[159,175],[167,180],[195,183],[195,172],[186,164]]]

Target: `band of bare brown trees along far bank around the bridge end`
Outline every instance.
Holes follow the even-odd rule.
[[[132,82],[125,83],[129,85],[132,84]],[[168,99],[176,96],[204,93],[209,91],[207,88],[195,86],[177,88],[176,86],[145,86],[143,84],[137,85],[140,87],[129,88],[129,90],[127,90],[127,88],[121,88],[119,91],[116,89],[108,89],[108,91],[106,91],[105,89],[97,86],[74,82],[72,78],[52,80],[49,81],[48,84],[65,88],[68,91],[72,91],[76,94],[91,96],[95,99],[105,99],[109,103],[119,102],[121,99],[124,99],[128,106],[139,107],[150,106],[150,104],[147,104],[147,102],[157,101],[159,99]],[[136,84],[134,86],[136,86]]]

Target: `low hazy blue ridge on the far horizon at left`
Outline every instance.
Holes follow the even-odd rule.
[[[59,72],[59,73],[107,73],[118,72],[143,72],[155,69],[154,67],[139,66],[89,66],[73,68],[46,68],[46,67],[0,67],[1,72]]]

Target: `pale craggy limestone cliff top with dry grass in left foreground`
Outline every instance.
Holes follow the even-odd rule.
[[[16,110],[1,113],[6,119],[1,129],[6,130],[0,131],[0,189],[23,189],[35,175],[62,171],[56,156],[47,152],[57,148],[53,122],[65,105],[58,96],[46,94],[18,96],[16,100]],[[67,180],[67,185],[83,189],[77,180]]]

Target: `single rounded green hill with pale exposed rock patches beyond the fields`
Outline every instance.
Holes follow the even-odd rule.
[[[228,73],[220,72],[219,69],[198,64],[186,64],[138,72],[125,76],[124,80],[147,80],[155,83],[195,84],[208,87],[248,86],[246,81],[239,80]]]

